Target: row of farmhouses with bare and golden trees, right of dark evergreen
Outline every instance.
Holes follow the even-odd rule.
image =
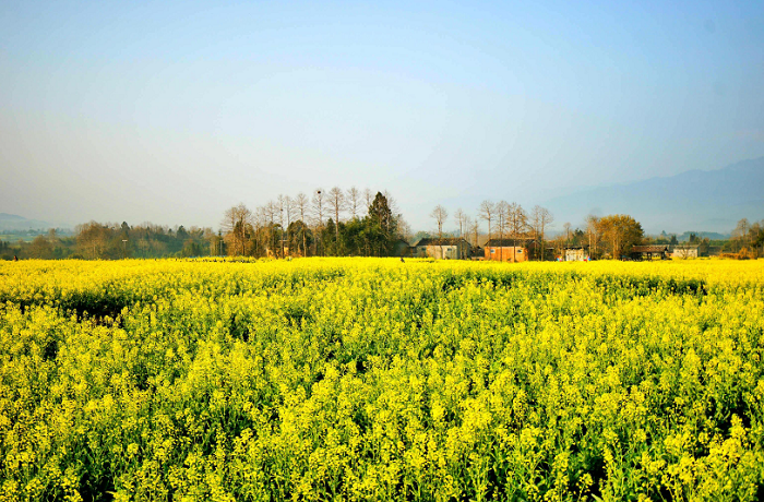
[[[645,236],[640,223],[629,215],[589,215],[585,228],[573,228],[570,223],[565,223],[562,231],[545,239],[545,226],[549,225],[553,217],[542,207],[534,207],[528,215],[516,204],[484,202],[481,210],[481,218],[488,219],[489,224],[489,211],[492,211],[492,216],[500,216],[493,218],[498,223],[493,227],[493,235],[490,234],[490,226],[487,236],[477,231],[464,236],[461,232],[458,236],[422,235],[411,246],[401,241],[397,252],[435,260],[489,260],[509,263],[764,256],[764,220],[750,223],[743,218],[738,222],[728,238],[718,239],[726,236],[713,235],[712,239],[689,232],[682,236],[687,239],[680,241],[676,235],[666,232]],[[440,206],[433,211],[431,216],[439,222],[439,229],[442,228],[440,223],[446,214]],[[505,216],[501,217],[502,214]],[[459,226],[461,217],[462,212],[457,211]],[[511,231],[515,229],[521,231]]]

